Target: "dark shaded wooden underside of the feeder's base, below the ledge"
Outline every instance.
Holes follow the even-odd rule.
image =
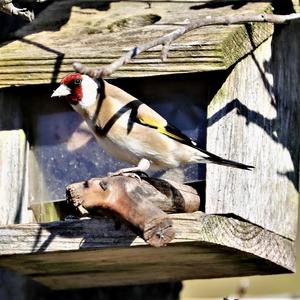
[[[48,275],[35,274],[32,279],[53,289],[66,289],[90,286],[120,286],[133,283],[159,283],[187,278],[231,277],[237,274],[240,276],[266,275],[270,272],[270,264],[264,260],[253,258],[252,255],[247,254],[242,254],[237,258],[237,256],[234,257],[235,251],[228,251],[224,247],[216,247],[211,253],[211,247],[205,245],[205,243],[186,246],[177,245],[176,247],[164,248],[160,253],[153,251],[153,249],[147,249],[148,251],[144,252],[141,248],[134,249],[135,251],[132,251],[132,253],[126,251],[126,249],[122,250],[117,251],[115,255],[113,252],[105,250],[104,253],[102,251],[90,253],[93,259],[86,261],[85,265],[94,265],[97,268],[94,272],[87,271],[87,273],[83,273],[77,271],[63,274],[57,270],[55,273]],[[206,254],[207,252],[209,254]],[[197,256],[201,254],[203,254],[203,259],[199,261]],[[227,258],[225,258],[225,255]],[[99,256],[102,256],[103,259],[121,256],[123,260],[118,264],[118,267],[109,263],[100,266],[97,259]],[[136,259],[138,256],[146,257],[146,260],[149,257],[156,259],[140,262]],[[66,255],[62,259],[65,257]],[[170,257],[172,258],[170,259]],[[73,265],[80,259],[81,256],[74,255],[69,264]],[[19,263],[23,263],[23,261],[20,260]],[[225,270],[221,270],[220,264]],[[260,264],[261,270],[259,272],[256,270],[257,264]],[[56,265],[58,265],[57,262]],[[77,267],[82,269],[82,266]],[[238,272],[236,272],[237,268],[239,268]],[[212,273],[209,270],[216,271],[214,275],[211,275]],[[282,268],[274,266],[272,271],[281,273]],[[145,276],[145,272],[151,274],[150,278]]]

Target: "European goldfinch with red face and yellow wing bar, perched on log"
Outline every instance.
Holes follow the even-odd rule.
[[[81,114],[104,150],[135,166],[118,174],[194,163],[253,168],[200,149],[156,111],[103,79],[69,74],[51,97],[61,96]]]

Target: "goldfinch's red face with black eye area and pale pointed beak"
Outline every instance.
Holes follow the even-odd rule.
[[[64,96],[72,105],[78,104],[83,98],[82,80],[82,75],[78,73],[65,76],[51,97]]]

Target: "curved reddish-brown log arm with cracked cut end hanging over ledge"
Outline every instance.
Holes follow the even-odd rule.
[[[166,246],[175,236],[171,219],[155,205],[156,199],[167,197],[142,179],[91,178],[68,185],[66,191],[68,202],[84,215],[112,216],[152,246]]]

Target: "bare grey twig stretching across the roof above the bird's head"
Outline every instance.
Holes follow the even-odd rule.
[[[81,73],[87,74],[93,78],[100,78],[111,75],[113,72],[118,70],[121,66],[129,63],[140,53],[147,51],[155,46],[163,45],[161,58],[163,61],[167,59],[170,44],[184,35],[185,33],[197,29],[203,26],[209,25],[230,25],[230,24],[244,24],[251,22],[269,22],[274,24],[286,24],[293,20],[299,20],[300,13],[294,13],[290,15],[273,15],[273,14],[258,14],[258,15],[232,15],[232,16],[207,16],[205,19],[194,20],[190,23],[181,26],[180,28],[165,34],[155,40],[148,43],[136,46],[128,51],[125,55],[119,59],[113,61],[106,67],[101,68],[88,68],[80,62],[73,64],[74,69]]]

